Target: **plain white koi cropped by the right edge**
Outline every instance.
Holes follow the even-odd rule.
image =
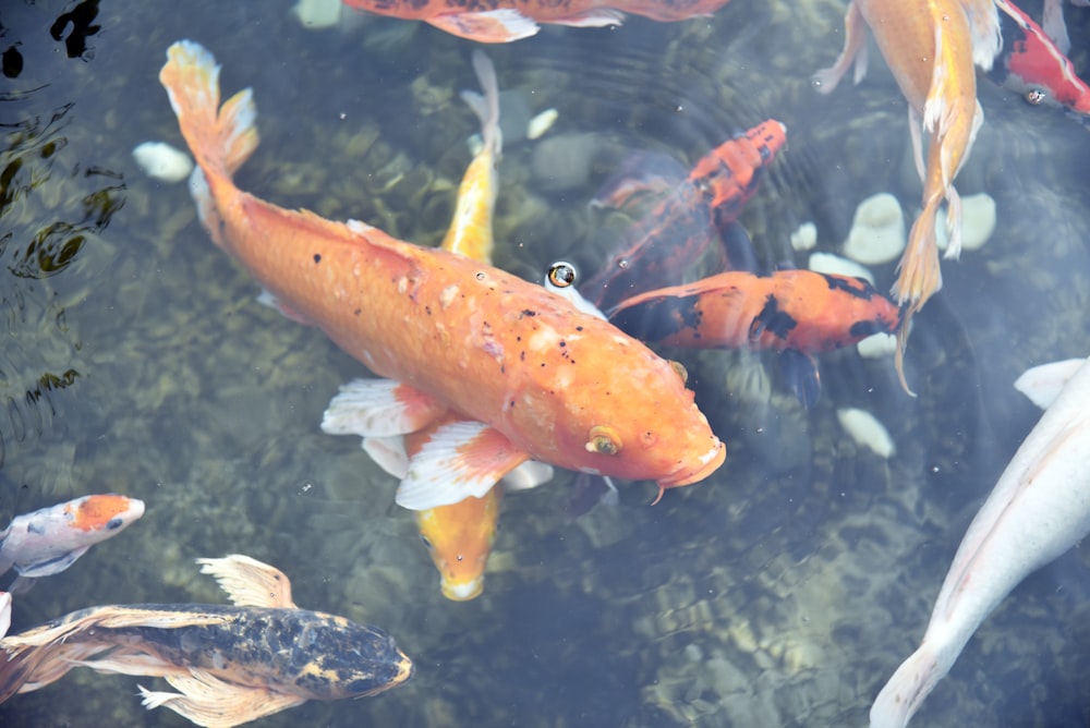
[[[879,693],[871,707],[871,726],[907,725],[977,627],[1006,595],[1090,533],[1088,453],[1090,364],[1083,362],[1022,441],[969,524],[923,641]]]

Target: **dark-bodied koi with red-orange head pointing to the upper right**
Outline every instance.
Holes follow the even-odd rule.
[[[678,282],[756,192],[764,169],[787,142],[770,119],[700,158],[689,177],[626,234],[626,244],[580,292],[606,310],[622,300]]]

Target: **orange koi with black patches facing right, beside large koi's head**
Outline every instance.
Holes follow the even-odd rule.
[[[792,352],[786,360],[795,366],[791,388],[809,408],[821,395],[812,355],[892,333],[900,312],[862,278],[735,270],[633,296],[610,311],[609,320],[661,345]]]

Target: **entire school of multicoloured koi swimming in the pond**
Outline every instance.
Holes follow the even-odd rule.
[[[343,2],[509,43],[538,24],[613,26],[626,13],[678,22],[728,0]],[[220,104],[211,53],[191,40],[167,50],[159,81],[195,157],[190,191],[203,227],[282,313],[366,367],[370,376],[332,398],[322,429],[360,436],[399,481],[396,502],[413,511],[444,597],[483,593],[505,489],[536,487],[562,468],[610,488],[610,478],[652,481],[658,502],[723,466],[726,446],[687,388],[683,363],[659,350],[780,352],[803,363],[791,387],[810,408],[821,391],[816,355],[895,335],[894,369],[912,395],[906,349],[913,317],[943,286],[944,205],[946,257],[961,247],[954,181],[984,123],[977,69],[1069,116],[1090,114],[1090,87],[1067,56],[1062,0],[1044,0],[1040,24],[1010,0],[850,0],[844,24],[839,57],[812,84],[829,94],[852,66],[859,83],[870,34],[907,101],[922,184],[892,299],[862,278],[756,269],[741,217],[787,148],[787,128],[774,119],[728,138],[683,179],[615,178],[598,203],[650,194],[657,204],[589,277],[577,281],[559,262],[538,284],[493,265],[502,134],[496,70],[481,50],[472,65],[482,93],[462,94],[481,143],[437,248],[241,191],[233,175],[258,144],[252,92]],[[633,159],[639,172],[646,158]],[[874,728],[906,726],[1010,591],[1090,533],[1090,364],[1034,367],[1015,386],[1045,412],[969,525],[919,648],[877,693]],[[173,692],[138,687],[145,707],[226,728],[311,700],[374,695],[413,676],[385,631],[300,609],[286,574],[238,554],[197,560],[231,605],[96,606],[8,634],[35,580],[60,574],[144,513],[136,498],[90,495],[16,515],[0,531],[0,574],[16,573],[0,591],[0,703],[87,667],[164,678]]]

